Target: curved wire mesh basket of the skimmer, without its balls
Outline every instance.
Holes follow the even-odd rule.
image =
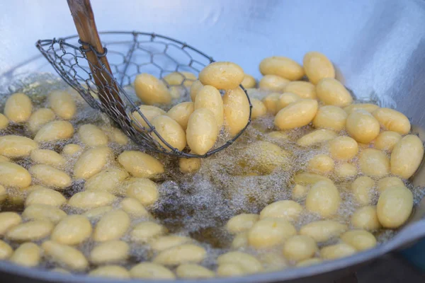
[[[250,124],[251,101],[244,87],[240,85],[249,101],[249,120],[245,127],[232,139],[213,147],[204,155],[179,151],[166,142],[143,115],[138,108],[142,103],[138,101],[137,96],[129,92],[128,86],[132,86],[137,74],[148,73],[162,79],[166,86],[178,92],[182,99],[189,100],[188,85],[194,80],[186,77],[184,72],[198,75],[203,67],[215,62],[214,59],[185,42],[155,33],[110,31],[99,34],[105,47],[103,54],[99,54],[90,45],[88,49],[84,49],[81,44],[86,45],[86,43],[81,42],[77,35],[38,40],[35,46],[50,62],[57,74],[74,88],[91,108],[105,112],[128,137],[143,148],[167,155],[206,158],[230,146]],[[109,36],[113,38],[106,40]],[[87,52],[96,54],[100,67],[94,66],[87,60]],[[101,57],[106,54],[108,54],[108,62],[113,74],[101,62]],[[96,71],[92,72],[91,68]],[[171,73],[181,75],[179,84],[170,85],[164,80],[164,76]],[[96,85],[95,81],[102,83]],[[144,127],[142,122],[145,122],[147,127]]]

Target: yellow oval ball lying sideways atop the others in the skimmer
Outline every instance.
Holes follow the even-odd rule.
[[[218,89],[234,89],[244,80],[244,70],[232,62],[214,62],[199,73],[199,81]]]

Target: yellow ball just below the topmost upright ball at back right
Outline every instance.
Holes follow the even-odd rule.
[[[353,102],[351,94],[336,79],[325,78],[317,82],[317,98],[326,105],[345,107]]]

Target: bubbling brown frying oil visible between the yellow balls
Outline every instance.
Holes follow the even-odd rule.
[[[23,92],[30,96],[33,100],[34,109],[44,108],[47,106],[46,96],[50,91],[55,89],[69,89],[62,81],[56,77],[41,74],[36,76],[28,76],[22,81],[16,81],[9,87],[10,92]],[[93,110],[78,96],[77,93],[71,91],[77,101],[77,113],[70,120],[74,129],[84,124],[94,124],[98,127],[111,127],[111,121],[105,115]],[[251,91],[249,93],[253,98],[263,98],[267,93],[262,91]],[[3,93],[0,96],[0,110],[3,110],[4,102],[8,93]],[[271,202],[277,200],[290,200],[291,189],[293,187],[293,176],[296,173],[305,171],[307,161],[317,154],[327,154],[326,146],[316,145],[307,148],[298,146],[296,141],[303,135],[312,132],[314,129],[310,126],[300,129],[286,131],[287,138],[278,139],[269,137],[268,133],[273,131],[273,116],[266,115],[254,120],[251,127],[246,129],[246,132],[240,137],[237,142],[230,146],[225,151],[203,159],[202,166],[199,171],[193,174],[183,174],[179,171],[178,160],[170,156],[162,156],[152,154],[159,158],[165,166],[165,173],[154,181],[159,184],[159,200],[148,207],[149,212],[154,216],[154,221],[157,221],[168,229],[169,233],[190,236],[200,243],[208,251],[207,258],[203,261],[205,267],[214,269],[216,267],[215,259],[217,255],[230,250],[232,235],[226,229],[226,222],[234,215],[241,213],[259,214],[261,209],[266,207]],[[23,125],[10,125],[6,130],[1,131],[0,135],[17,134],[33,138],[34,134],[29,132]],[[339,135],[346,135],[345,132]],[[219,141],[227,140],[228,137],[222,133]],[[246,146],[255,141],[269,141],[276,144],[281,149],[284,149],[290,154],[290,163],[283,168],[278,168],[269,174],[261,174],[246,163],[255,162],[255,160],[242,160],[246,156]],[[65,144],[81,144],[77,138],[67,139],[63,142],[45,142],[40,144],[40,149],[52,149],[56,152],[61,152]],[[82,145],[82,144],[81,144]],[[115,156],[125,150],[140,150],[144,151],[130,141],[125,146],[118,144],[109,144]],[[255,156],[255,152],[250,153]],[[29,168],[32,161],[29,157],[14,159],[14,162]],[[67,161],[67,166],[64,171],[72,175],[72,168],[77,161],[77,156],[70,158]],[[336,162],[336,166],[338,166]],[[356,160],[353,161],[356,164]],[[110,166],[118,165],[116,161],[111,161]],[[358,168],[359,169],[359,168]],[[341,206],[334,219],[350,225],[350,216],[359,207],[354,202],[350,192],[350,185],[355,178],[341,179],[331,173],[328,178],[334,180],[336,187],[341,192]],[[409,180],[404,180],[405,185],[414,192],[415,203],[421,200],[425,195],[422,188],[414,188]],[[35,183],[36,184],[36,183]],[[118,187],[119,191],[123,189]],[[77,192],[84,190],[84,181],[73,180],[72,187],[68,190],[61,191],[62,194],[69,199]],[[378,193],[373,192],[373,203],[378,200]],[[13,198],[19,197],[20,192],[17,190],[9,190],[9,196]],[[301,200],[300,204],[304,206],[305,200]],[[118,204],[114,204],[115,207]],[[63,208],[67,214],[80,214],[81,211],[65,206]],[[22,202],[6,202],[1,206],[1,212],[4,211],[23,211]],[[311,221],[319,220],[317,214],[303,210],[300,218],[295,223],[295,228],[298,230],[301,226],[310,223]],[[140,221],[145,219],[133,219],[131,226],[135,226]],[[91,219],[92,224],[96,224],[98,219]],[[378,243],[382,243],[392,238],[397,231],[380,230],[375,231],[375,236]],[[132,267],[137,262],[149,260],[154,253],[145,245],[131,243],[129,236],[123,238],[124,241],[130,243],[130,258],[125,262],[125,267]],[[331,240],[326,243],[321,243],[320,246],[327,246],[330,243],[335,243],[336,240]],[[18,246],[17,243],[11,243],[13,248]],[[94,247],[94,241],[89,239],[85,241],[79,249],[89,256],[91,248]],[[261,258],[261,253],[266,251],[256,251],[252,248],[242,248],[242,251],[258,255]],[[292,262],[293,263],[293,262]],[[291,264],[292,264],[291,263]],[[42,267],[52,268],[56,265],[53,262],[45,261]]]

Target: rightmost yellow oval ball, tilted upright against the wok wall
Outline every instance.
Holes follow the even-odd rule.
[[[413,134],[408,134],[392,149],[391,173],[404,179],[410,178],[421,165],[423,157],[424,145],[421,139]]]

